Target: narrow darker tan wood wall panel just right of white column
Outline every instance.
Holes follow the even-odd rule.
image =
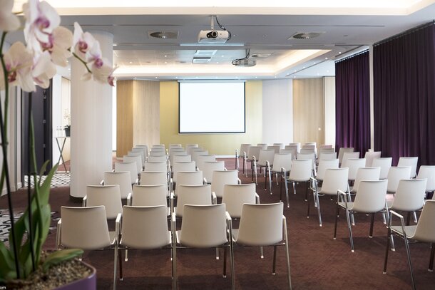
[[[116,157],[133,147],[133,81],[116,82]]]

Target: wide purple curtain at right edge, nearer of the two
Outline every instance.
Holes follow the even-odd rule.
[[[374,149],[435,164],[435,26],[405,33],[373,50]]]

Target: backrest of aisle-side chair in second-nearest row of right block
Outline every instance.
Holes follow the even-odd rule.
[[[387,180],[362,180],[355,195],[354,211],[373,213],[385,207],[387,197]]]

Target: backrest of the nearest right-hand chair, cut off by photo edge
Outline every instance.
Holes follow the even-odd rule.
[[[421,242],[435,242],[435,200],[426,200],[413,238]]]

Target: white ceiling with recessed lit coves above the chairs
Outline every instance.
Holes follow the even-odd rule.
[[[113,33],[113,63],[119,66],[115,73],[119,79],[333,76],[338,58],[432,21],[435,16],[435,1],[426,0],[366,0],[358,6],[357,1],[342,0],[305,0],[304,6],[287,3],[294,1],[267,1],[269,7],[252,3],[242,6],[243,1],[226,0],[219,6],[178,1],[178,7],[170,6],[171,1],[165,1],[167,6],[138,0],[121,4],[104,1],[105,7],[90,0],[49,2],[63,14],[62,25],[71,30],[73,22],[78,21],[85,31]],[[193,5],[196,2],[199,6]],[[123,4],[126,6],[120,7]],[[200,46],[198,33],[210,30],[212,15],[218,15],[232,38],[221,46]],[[149,33],[154,31],[173,31],[178,37],[152,38]],[[297,32],[319,32],[320,36],[289,40]],[[20,37],[11,35],[7,40]],[[232,46],[234,43],[240,46]],[[270,56],[255,58],[257,65],[250,68],[232,66],[231,61],[243,58],[247,48],[251,56]],[[198,49],[215,50],[210,62],[192,63]]]

